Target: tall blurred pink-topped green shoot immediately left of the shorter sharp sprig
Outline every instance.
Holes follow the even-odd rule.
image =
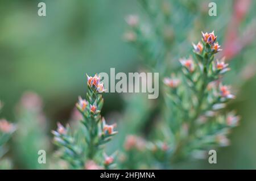
[[[43,101],[34,92],[24,92],[16,107],[15,158],[24,169],[46,169],[46,165],[38,163],[38,151],[48,151],[50,144],[42,110]]]

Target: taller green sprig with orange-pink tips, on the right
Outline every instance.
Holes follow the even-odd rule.
[[[223,111],[235,97],[221,83],[229,68],[224,59],[214,59],[221,50],[217,36],[213,32],[202,34],[203,42],[193,44],[194,58],[180,60],[183,74],[164,79],[170,113],[167,121],[174,137],[173,161],[229,145],[226,134],[239,120]]]

